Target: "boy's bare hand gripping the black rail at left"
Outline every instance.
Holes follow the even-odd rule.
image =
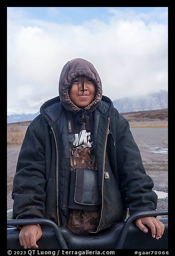
[[[19,233],[19,243],[25,249],[37,249],[37,241],[42,236],[42,230],[39,224],[23,226]]]

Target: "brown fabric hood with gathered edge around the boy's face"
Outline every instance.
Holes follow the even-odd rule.
[[[97,70],[93,67],[92,63],[87,60],[77,58],[74,60],[68,61],[61,72],[60,81],[59,81],[59,95],[60,100],[65,109],[73,112],[78,112],[81,110],[76,106],[69,97],[69,86],[72,83],[72,80],[77,76],[86,76],[93,81],[96,86],[96,96],[94,101],[91,102],[88,106],[85,107],[86,110],[92,112],[102,98],[102,84],[100,77],[97,73]]]

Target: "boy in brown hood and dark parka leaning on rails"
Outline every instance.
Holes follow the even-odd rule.
[[[97,233],[134,214],[155,210],[157,195],[145,173],[128,121],[102,96],[99,74],[84,59],[68,61],[59,95],[28,126],[17,162],[13,218],[49,218],[75,234]],[[136,220],[152,237],[164,224]],[[38,248],[40,225],[22,227],[24,248]]]

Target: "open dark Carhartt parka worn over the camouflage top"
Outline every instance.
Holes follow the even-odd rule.
[[[63,105],[60,96],[50,99],[28,126],[13,182],[14,219],[48,218],[68,224],[70,153]],[[122,221],[127,208],[130,214],[155,210],[157,195],[129,123],[108,97],[103,96],[93,110],[93,124],[101,198],[98,232]]]

